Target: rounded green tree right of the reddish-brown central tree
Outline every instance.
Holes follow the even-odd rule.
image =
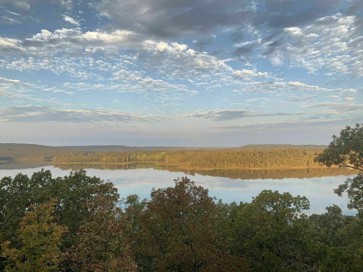
[[[310,207],[305,196],[264,190],[251,203],[232,205],[226,224],[229,249],[252,271],[304,271],[303,232]]]

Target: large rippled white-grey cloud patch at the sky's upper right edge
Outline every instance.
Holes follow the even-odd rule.
[[[261,48],[276,66],[363,76],[362,23],[356,16],[336,13],[304,27],[285,28]]]

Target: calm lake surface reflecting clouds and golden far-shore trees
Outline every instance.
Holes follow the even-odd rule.
[[[0,163],[0,177],[15,176],[21,172],[32,175],[41,168],[50,170],[53,177],[65,176],[70,170],[86,169],[90,176],[110,180],[119,190],[121,197],[138,194],[150,198],[153,187],[174,185],[178,176],[188,176],[197,185],[209,189],[209,195],[225,203],[250,202],[253,196],[264,189],[303,195],[310,200],[307,214],[322,213],[326,206],[337,204],[344,214],[355,214],[347,209],[346,196],[339,198],[333,189],[356,172],[347,169],[290,169],[290,170],[210,170],[186,171],[170,166],[152,164],[132,165],[50,165],[42,162]]]

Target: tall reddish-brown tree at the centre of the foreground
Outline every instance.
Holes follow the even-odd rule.
[[[208,190],[186,177],[151,192],[136,248],[145,271],[244,271],[224,254],[215,231],[218,210]]]

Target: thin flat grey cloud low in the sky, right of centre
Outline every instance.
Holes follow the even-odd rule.
[[[215,109],[215,110],[197,110],[194,113],[184,114],[187,118],[205,118],[212,121],[228,121],[233,119],[240,119],[246,117],[258,117],[258,116],[289,116],[300,115],[302,112],[293,113],[255,113],[248,109]]]

